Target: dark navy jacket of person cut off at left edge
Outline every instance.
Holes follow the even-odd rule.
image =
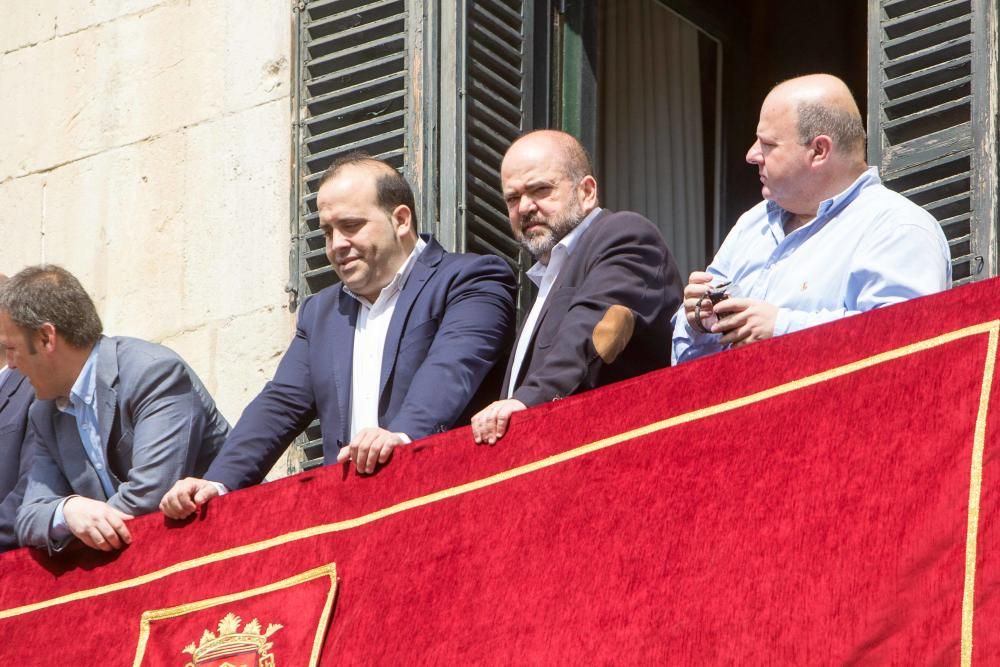
[[[35,452],[28,431],[28,408],[35,391],[17,370],[0,381],[0,551],[18,546],[14,517],[24,498],[28,468]]]

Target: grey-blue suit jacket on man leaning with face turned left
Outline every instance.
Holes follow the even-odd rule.
[[[17,513],[21,544],[61,549],[49,538],[63,498],[104,500],[128,514],[156,510],[174,482],[201,476],[229,424],[194,371],[171,350],[135,338],[102,338],[97,353],[97,422],[110,498],[80,441],[76,419],[55,401],[36,401],[29,420],[38,450]]]

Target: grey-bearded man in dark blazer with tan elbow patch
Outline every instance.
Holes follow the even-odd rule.
[[[681,279],[642,216],[598,207],[597,181],[572,136],[531,132],[508,149],[501,180],[514,236],[539,287],[496,401],[473,417],[477,443],[503,437],[519,410],[670,365]]]

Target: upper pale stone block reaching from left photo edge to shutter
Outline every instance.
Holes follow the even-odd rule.
[[[0,180],[287,99],[290,21],[285,3],[169,2],[6,54]]]

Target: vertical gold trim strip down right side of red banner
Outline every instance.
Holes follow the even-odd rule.
[[[965,585],[962,591],[962,667],[972,664],[972,617],[976,589],[976,546],[979,541],[979,501],[983,488],[983,450],[986,448],[986,416],[993,391],[993,371],[997,359],[998,330],[990,330],[990,342],[979,390],[979,410],[972,442],[972,465],[969,473],[969,525],[965,535]]]

